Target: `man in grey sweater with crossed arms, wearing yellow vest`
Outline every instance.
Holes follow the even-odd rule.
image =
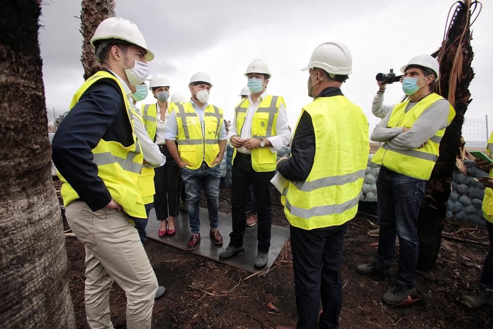
[[[433,93],[438,62],[429,55],[413,57],[401,68],[402,90],[409,99],[388,107],[371,139],[384,143],[372,162],[381,166],[377,178],[378,251],[372,263],[357,266],[363,275],[391,275],[395,237],[399,237],[399,268],[384,302],[405,306],[420,299],[415,287],[418,262],[418,214],[426,182],[438,159],[440,140],[455,116],[443,97]],[[382,93],[385,90],[380,90]],[[383,103],[383,97],[382,101]]]

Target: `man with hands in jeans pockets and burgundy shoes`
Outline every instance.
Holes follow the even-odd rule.
[[[192,97],[189,102],[176,104],[166,124],[165,139],[168,150],[181,168],[181,178],[185,183],[191,231],[187,250],[194,251],[200,242],[199,203],[202,184],[209,210],[209,236],[214,244],[222,245],[217,226],[220,163],[226,148],[226,129],[222,110],[208,103],[212,87],[209,74],[193,74],[188,86]]]

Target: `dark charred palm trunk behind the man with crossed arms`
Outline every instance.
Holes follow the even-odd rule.
[[[442,47],[432,54],[438,56],[440,80],[435,92],[448,99],[456,110],[456,117],[445,130],[440,142],[440,157],[426,184],[426,191],[418,218],[420,250],[418,269],[429,271],[435,267],[442,229],[447,211],[447,201],[456,167],[456,157],[460,147],[462,124],[467,106],[471,102],[469,84],[474,78],[471,62],[474,56],[471,47],[471,0],[458,1],[447,37]]]

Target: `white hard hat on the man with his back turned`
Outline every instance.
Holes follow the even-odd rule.
[[[339,41],[327,41],[315,48],[310,62],[301,71],[319,68],[327,73],[347,75],[352,73],[351,66],[349,48]]]

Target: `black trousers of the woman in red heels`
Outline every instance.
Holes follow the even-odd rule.
[[[167,154],[166,146],[160,145],[161,153]],[[173,158],[166,158],[166,164],[154,169],[154,209],[157,220],[176,217],[179,214],[181,191],[180,169]]]

